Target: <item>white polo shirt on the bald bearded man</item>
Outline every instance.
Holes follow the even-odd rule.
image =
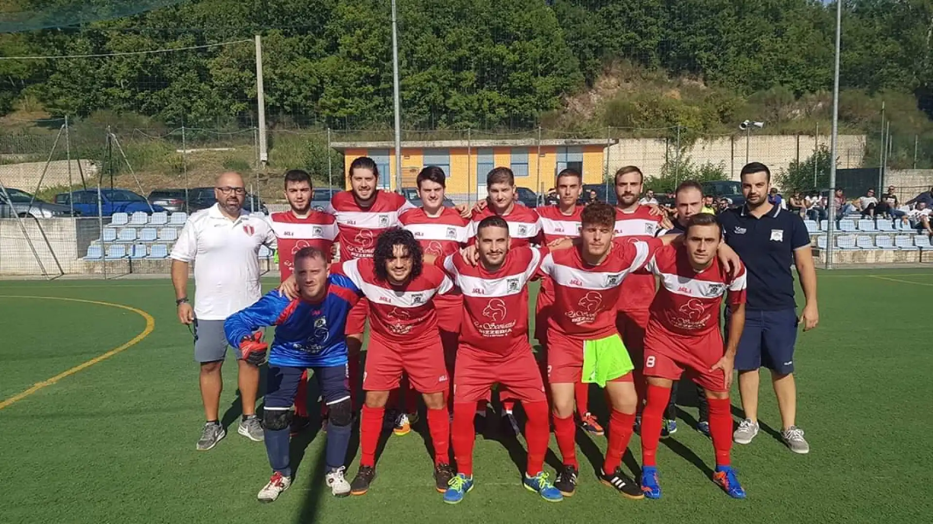
[[[225,320],[262,296],[259,246],[275,245],[275,233],[264,217],[241,211],[230,220],[218,204],[188,217],[170,258],[194,262],[194,316]]]

